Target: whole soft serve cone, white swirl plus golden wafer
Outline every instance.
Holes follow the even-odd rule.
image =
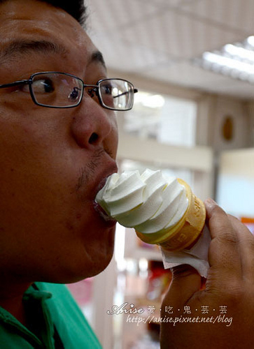
[[[204,226],[204,204],[181,179],[165,179],[160,170],[114,173],[96,201],[108,216],[134,228],[149,244],[169,251],[190,246]]]

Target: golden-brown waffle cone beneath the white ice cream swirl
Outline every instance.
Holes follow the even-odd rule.
[[[136,232],[136,235],[148,244],[158,244],[167,251],[180,251],[191,248],[195,244],[204,228],[206,209],[202,200],[197,198],[185,181],[178,179],[185,187],[188,197],[188,209],[178,223],[171,228],[151,234]]]

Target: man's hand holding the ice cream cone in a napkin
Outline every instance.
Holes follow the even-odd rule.
[[[249,349],[254,345],[254,237],[213,200],[205,205],[212,238],[205,289],[194,268],[173,268],[161,317],[181,320],[161,323],[161,348]]]

